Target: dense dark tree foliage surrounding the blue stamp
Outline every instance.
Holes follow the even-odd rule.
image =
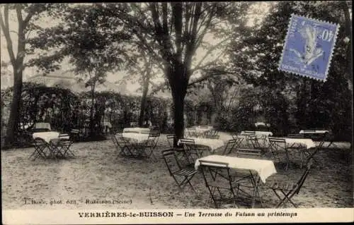
[[[247,83],[261,87],[266,93],[273,90],[279,96],[286,97],[290,105],[295,105],[295,109],[287,110],[293,114],[289,117],[293,117],[292,126],[297,129],[331,128],[337,138],[350,140],[347,134],[350,133],[352,124],[351,91],[348,89],[350,79],[346,60],[348,42],[342,10],[337,1],[278,2],[270,8],[270,14],[263,20],[261,27],[255,30],[245,29],[242,39],[232,42],[229,52],[234,69],[241,68],[240,74]],[[341,25],[325,83],[278,71],[291,13]],[[258,98],[270,100],[275,97],[267,97],[263,92],[259,93]]]

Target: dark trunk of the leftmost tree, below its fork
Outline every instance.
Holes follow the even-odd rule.
[[[13,68],[13,97],[11,102],[11,113],[8,118],[6,130],[5,147],[11,147],[15,140],[15,135],[18,131],[19,109],[22,95],[22,74],[23,71],[17,67]]]

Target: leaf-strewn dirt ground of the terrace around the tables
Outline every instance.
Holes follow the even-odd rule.
[[[229,135],[222,134],[223,140]],[[28,159],[33,148],[1,150],[3,209],[183,209],[210,208],[209,193],[201,174],[190,188],[178,190],[161,158],[168,147],[161,135],[155,151],[157,162],[116,157],[110,140],[74,143],[73,159]],[[353,207],[353,152],[346,144],[321,150],[302,190],[293,198],[299,207]],[[219,149],[217,154],[221,154]],[[268,181],[297,181],[302,169],[292,168],[270,176]],[[278,199],[271,190],[262,193],[263,207],[272,208]],[[32,201],[37,204],[32,204]],[[87,203],[89,200],[93,202]],[[105,200],[102,204],[94,201]],[[42,201],[42,204],[38,203]],[[110,201],[110,203],[108,202]],[[113,204],[114,203],[114,204]],[[239,201],[239,208],[248,208]],[[256,205],[260,207],[260,205]],[[287,205],[291,207],[291,205]]]

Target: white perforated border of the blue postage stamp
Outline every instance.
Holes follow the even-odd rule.
[[[283,56],[284,56],[284,53],[285,53],[285,47],[287,46],[287,39],[289,37],[289,31],[290,31],[290,25],[291,25],[291,21],[294,17],[298,17],[298,18],[304,18],[306,20],[312,20],[316,23],[329,23],[331,25],[334,25],[336,26],[336,33],[334,35],[334,39],[333,39],[333,45],[331,47],[331,54],[329,54],[329,63],[327,64],[326,66],[326,71],[324,72],[324,79],[321,79],[321,78],[314,78],[312,76],[309,76],[309,75],[306,75],[306,74],[301,74],[301,73],[294,73],[292,71],[286,71],[284,69],[281,68],[281,65],[282,65],[282,60],[283,60]],[[295,13],[292,13],[291,14],[291,17],[290,17],[290,20],[289,20],[289,23],[287,25],[287,35],[285,36],[285,42],[283,44],[283,47],[282,47],[282,55],[280,57],[280,61],[279,61],[279,66],[278,66],[278,70],[279,71],[284,71],[286,73],[291,73],[293,75],[297,75],[297,76],[303,76],[303,77],[307,77],[307,78],[310,78],[310,79],[313,79],[313,80],[319,80],[319,81],[322,81],[322,82],[325,82],[327,80],[327,75],[329,73],[329,67],[331,66],[331,60],[332,60],[332,56],[333,56],[333,51],[334,49],[336,49],[336,41],[337,41],[337,36],[338,36],[338,31],[339,31],[339,28],[340,28],[340,25],[338,23],[332,23],[332,22],[327,22],[327,21],[324,21],[324,20],[319,20],[319,19],[315,19],[315,18],[309,18],[309,17],[305,17],[305,16],[299,16]]]

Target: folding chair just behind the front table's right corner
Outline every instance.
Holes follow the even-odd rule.
[[[275,162],[284,162],[280,159],[280,155],[285,155],[285,170],[287,170],[290,165],[289,153],[287,152],[287,143],[284,138],[268,138],[269,147],[268,150],[273,154]]]

